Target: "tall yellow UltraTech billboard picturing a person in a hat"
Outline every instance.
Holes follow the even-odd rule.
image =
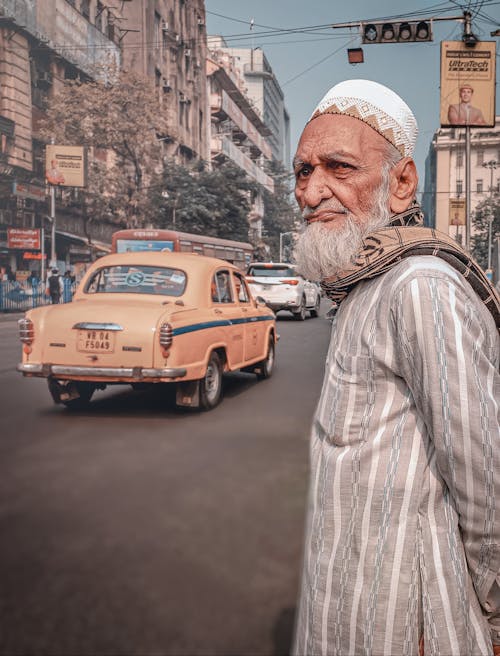
[[[441,127],[494,127],[495,42],[441,42]]]

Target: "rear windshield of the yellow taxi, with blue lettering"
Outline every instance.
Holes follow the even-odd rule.
[[[141,265],[109,266],[98,269],[87,281],[87,294],[157,294],[181,296],[186,274],[179,269]]]

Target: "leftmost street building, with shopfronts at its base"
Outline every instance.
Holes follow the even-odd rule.
[[[120,65],[120,4],[2,0],[0,5],[0,267],[16,272],[18,280],[29,270],[41,273],[48,263],[43,251],[50,253],[52,246],[40,118],[67,80],[88,80],[96,66]],[[113,229],[89,225],[77,201],[77,189],[56,190],[56,259],[63,270],[106,252]]]

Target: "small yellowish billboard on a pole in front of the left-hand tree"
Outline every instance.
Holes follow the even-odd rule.
[[[45,179],[61,187],[85,187],[87,158],[83,146],[45,146]]]

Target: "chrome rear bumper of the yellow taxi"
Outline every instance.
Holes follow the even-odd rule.
[[[48,378],[83,378],[112,382],[137,382],[159,380],[162,378],[182,378],[187,370],[184,368],[153,369],[148,367],[79,367],[56,364],[31,364],[21,362],[17,370],[26,376]]]

